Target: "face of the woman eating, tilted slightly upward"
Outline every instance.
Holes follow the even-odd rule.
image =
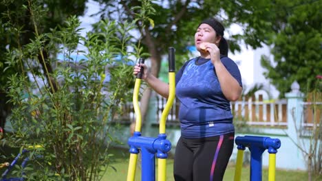
[[[208,24],[202,23],[198,28],[197,32],[195,32],[195,47],[198,51],[201,51],[200,44],[201,43],[215,43],[217,47],[219,46],[219,41],[221,36],[217,36],[213,27]]]

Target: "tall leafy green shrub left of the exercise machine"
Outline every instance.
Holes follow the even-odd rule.
[[[39,7],[26,6],[43,16]],[[109,145],[117,142],[110,123],[131,95],[130,64],[144,54],[131,42],[135,24],[100,21],[97,32],[83,37],[76,16],[42,34],[36,31],[39,21],[32,19],[35,34],[29,43],[3,54],[6,71],[19,71],[8,75],[13,132],[1,142],[21,150],[41,145],[28,153],[30,180],[100,180],[110,162]],[[18,43],[20,36],[15,34]],[[13,173],[21,174],[17,169]]]

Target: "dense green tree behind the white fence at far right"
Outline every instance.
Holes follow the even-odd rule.
[[[274,61],[261,59],[272,81],[283,97],[297,81],[301,91],[309,93],[322,70],[322,1],[275,1],[271,19],[276,34],[271,36]]]

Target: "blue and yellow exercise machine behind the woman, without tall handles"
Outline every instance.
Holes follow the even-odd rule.
[[[268,181],[275,180],[276,153],[277,149],[281,147],[281,141],[278,138],[237,136],[235,138],[235,143],[238,149],[235,181],[241,180],[241,167],[243,165],[244,150],[246,147],[250,150],[250,181],[261,181],[261,155],[266,149],[268,149],[269,153]]]

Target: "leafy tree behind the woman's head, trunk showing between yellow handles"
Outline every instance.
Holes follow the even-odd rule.
[[[238,43],[242,39],[253,48],[261,47],[261,43],[268,40],[266,29],[261,28],[271,25],[270,22],[261,21],[270,12],[270,9],[267,8],[267,5],[270,5],[268,0],[260,2],[100,0],[98,2],[103,6],[100,12],[102,19],[107,17],[120,22],[131,21],[137,14],[153,12],[149,19],[136,23],[137,32],[142,37],[142,45],[150,53],[151,73],[155,76],[158,76],[162,55],[167,53],[168,47],[175,47],[177,58],[181,58],[181,62],[186,61],[189,54],[187,46],[194,45],[195,30],[203,19],[217,17],[225,27],[229,27],[232,23],[239,23],[241,27],[244,27],[245,34],[240,32],[230,35],[228,43],[231,51],[239,51]],[[140,12],[133,8],[138,5],[149,5],[149,12]],[[147,112],[150,93],[150,89],[147,88],[142,95],[141,113],[143,119]]]

